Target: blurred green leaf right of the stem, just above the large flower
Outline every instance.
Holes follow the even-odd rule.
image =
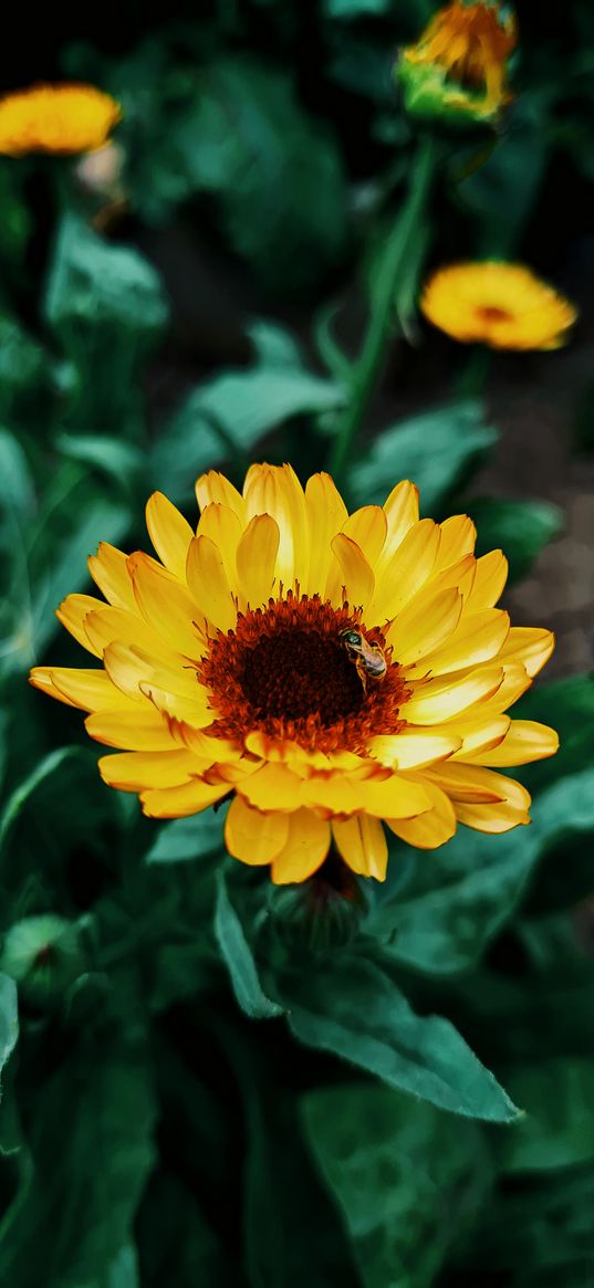
[[[483,425],[477,402],[423,412],[375,439],[350,471],[350,492],[358,505],[381,504],[396,483],[411,479],[420,491],[423,511],[432,514],[450,492],[463,487],[496,438],[496,430]]]

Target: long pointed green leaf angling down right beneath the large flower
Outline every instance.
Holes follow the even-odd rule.
[[[513,1122],[518,1110],[438,1015],[415,1015],[380,966],[343,953],[316,974],[278,981],[289,1025],[305,1046],[332,1051],[398,1091],[466,1118]]]

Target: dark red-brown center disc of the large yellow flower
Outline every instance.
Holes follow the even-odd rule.
[[[198,668],[219,714],[211,733],[244,743],[263,730],[311,751],[362,752],[372,734],[402,729],[407,692],[390,650],[385,675],[374,679],[343,643],[340,632],[350,627],[385,648],[379,627],[367,630],[359,616],[347,603],[334,608],[291,591],[240,613],[235,630],[218,631]]]

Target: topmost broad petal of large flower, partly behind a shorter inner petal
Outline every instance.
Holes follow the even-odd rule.
[[[271,514],[278,524],[276,577],[286,592],[308,582],[309,528],[302,484],[290,465],[253,465],[244,484],[246,516]]]

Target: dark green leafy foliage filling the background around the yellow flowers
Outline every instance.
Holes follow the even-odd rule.
[[[415,165],[394,52],[432,8],[220,0],[148,35],[124,9],[116,50],[98,18],[59,72],[124,104],[107,231],[113,192],[1,158],[3,1288],[591,1283],[591,677],[522,701],[562,737],[518,773],[530,828],[436,854],[393,838],[385,885],[327,925],[224,857],[224,811],[142,818],[79,715],[26,684],[80,665],[53,609],[99,540],[146,544],[151,489],[192,518],[204,469],[331,460]],[[564,515],[477,492],[490,397],[564,359],[488,371],[415,301],[447,258],[555,277],[585,254],[591,9],[519,19],[517,100],[499,137],[451,148],[343,480],[352,504],[410,477],[424,513],[468,509],[515,581]],[[573,399],[586,453],[586,375]]]

